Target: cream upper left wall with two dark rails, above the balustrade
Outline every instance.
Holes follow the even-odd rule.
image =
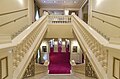
[[[29,26],[33,15],[33,0],[0,1],[0,35],[14,35]],[[32,10],[31,10],[32,9]]]

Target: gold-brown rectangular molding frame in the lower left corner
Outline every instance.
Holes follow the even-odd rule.
[[[2,77],[2,61],[5,60],[6,64],[6,75]],[[6,79],[8,77],[8,57],[4,57],[0,59],[0,79]]]

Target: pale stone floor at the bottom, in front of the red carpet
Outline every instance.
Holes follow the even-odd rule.
[[[30,78],[26,78],[26,79],[95,79],[95,78],[90,78],[90,77],[86,77],[82,74],[70,74],[70,75],[58,75],[58,74],[54,74],[54,75],[50,75],[50,74],[38,74],[35,75],[34,77],[30,77]]]

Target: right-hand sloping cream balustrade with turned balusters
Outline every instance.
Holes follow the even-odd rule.
[[[85,24],[84,22],[82,22],[74,14],[73,14],[72,23],[74,24],[74,27],[73,27],[74,31],[77,31],[76,33],[80,34],[83,37],[84,42],[87,44],[87,46],[90,49],[91,53],[97,59],[97,61],[99,62],[99,64],[101,65],[101,67],[104,69],[104,71],[107,73],[107,68],[108,68],[108,52],[107,52],[106,47],[104,47],[104,45],[101,42],[99,42],[99,40],[96,39],[97,35],[93,36],[93,33],[91,33],[89,31],[89,29],[92,30],[92,28],[90,28],[87,24]],[[88,51],[88,53],[89,53],[89,51]]]

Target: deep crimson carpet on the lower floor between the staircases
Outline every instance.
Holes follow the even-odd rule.
[[[58,48],[58,52],[54,52],[54,49],[50,49],[50,64],[49,74],[70,74],[70,52],[66,48],[66,52],[61,52],[62,48]]]

